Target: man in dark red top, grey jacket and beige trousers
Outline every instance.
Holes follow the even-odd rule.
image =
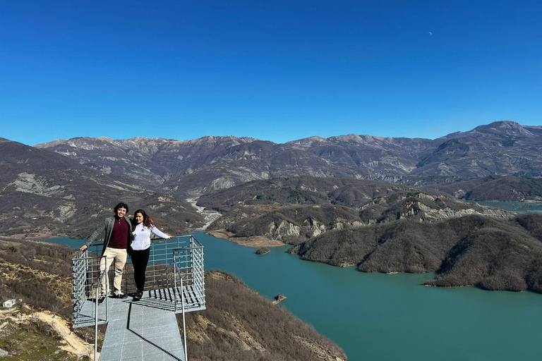
[[[128,295],[121,292],[121,282],[124,265],[126,264],[126,248],[131,240],[132,226],[130,219],[126,216],[126,212],[128,212],[128,205],[126,203],[121,202],[116,204],[114,210],[115,215],[105,219],[102,224],[100,224],[100,227],[90,235],[87,243],[85,243],[83,247],[80,247],[80,250],[86,250],[88,246],[102,234],[102,232],[105,232],[102,259],[100,259],[100,274],[102,274],[104,269],[109,271],[109,267],[114,263],[115,276],[113,282],[113,297],[127,298]],[[97,300],[99,305],[104,302],[107,295],[109,295],[109,281],[106,278],[100,284],[100,297]]]

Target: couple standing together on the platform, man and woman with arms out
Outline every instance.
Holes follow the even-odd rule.
[[[113,298],[127,298],[128,295],[121,291],[121,281],[127,254],[129,254],[133,264],[135,286],[138,287],[138,292],[133,296],[133,300],[138,301],[143,297],[145,288],[145,270],[150,255],[150,233],[161,238],[169,239],[171,237],[156,228],[150,216],[147,216],[143,209],[135,211],[132,219],[126,216],[128,212],[128,204],[126,203],[116,204],[114,211],[114,216],[105,219],[80,250],[86,250],[105,232],[100,274],[106,269],[109,271],[109,267],[113,264],[115,270]],[[104,302],[107,295],[109,295],[109,281],[106,279],[100,285],[100,297],[97,302],[99,304]]]

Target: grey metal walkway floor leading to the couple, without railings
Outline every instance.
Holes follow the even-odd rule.
[[[139,302],[107,299],[109,322],[100,361],[186,361],[175,313],[155,307],[152,292]],[[101,312],[105,302],[98,307]]]

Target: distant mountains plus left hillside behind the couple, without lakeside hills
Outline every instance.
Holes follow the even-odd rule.
[[[344,135],[275,144],[251,137],[78,137],[29,147],[1,139],[0,218],[13,221],[1,222],[0,230],[86,236],[94,219],[124,200],[150,207],[166,231],[183,233],[204,223],[188,197],[219,209],[224,202],[210,204],[207,195],[239,189],[241,194],[228,197],[245,202],[236,185],[263,181],[258,187],[265,188],[265,182],[299,176],[320,179],[320,185],[343,179],[344,187],[333,181],[337,189],[326,188],[325,202],[349,207],[370,198],[361,194],[371,188],[363,180],[395,183],[373,183],[375,190],[425,186],[465,200],[541,200],[541,148],[541,126],[511,121],[435,140]],[[282,191],[287,197],[303,196],[303,189],[289,188]],[[270,195],[253,195],[258,196]]]

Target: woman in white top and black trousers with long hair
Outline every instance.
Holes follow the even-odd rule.
[[[132,238],[130,257],[133,264],[133,279],[138,292],[133,296],[134,301],[141,300],[143,297],[143,288],[145,288],[145,270],[149,262],[150,254],[150,233],[161,238],[170,239],[166,233],[162,233],[155,227],[155,222],[147,216],[143,209],[138,209],[133,214],[132,219]]]

